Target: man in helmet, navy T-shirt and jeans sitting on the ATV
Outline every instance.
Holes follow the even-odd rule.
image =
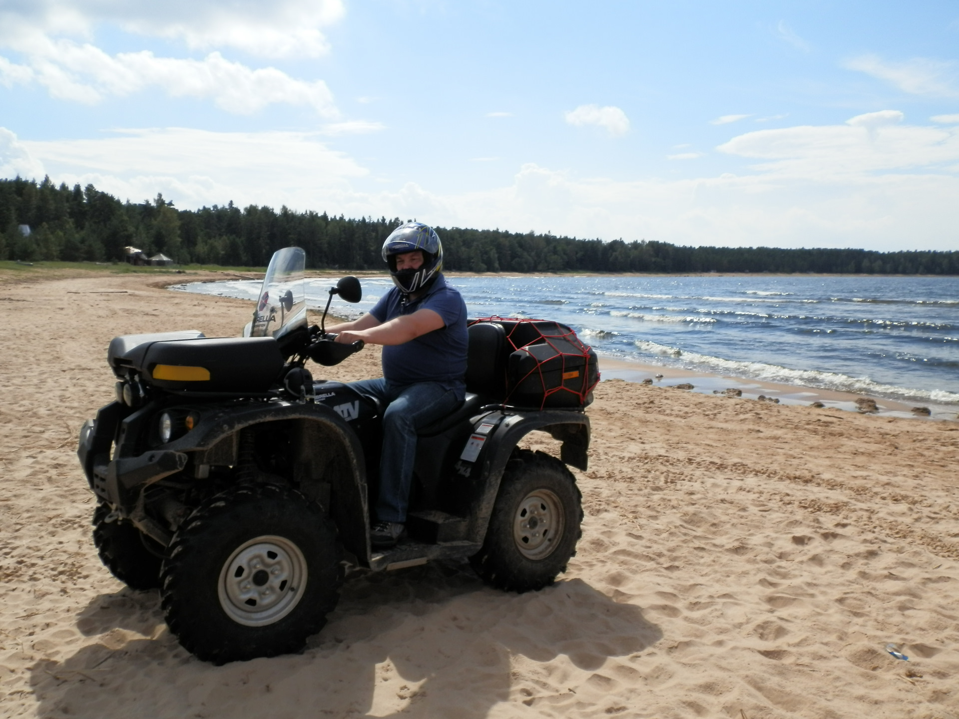
[[[386,406],[375,547],[396,545],[407,521],[416,431],[453,411],[466,393],[466,303],[442,274],[443,245],[422,222],[390,233],[383,259],[396,287],[369,313],[330,328],[337,342],[382,344],[383,377],[350,383]]]

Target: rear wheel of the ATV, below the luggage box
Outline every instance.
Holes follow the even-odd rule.
[[[536,591],[566,571],[582,535],[581,495],[566,465],[521,450],[503,472],[482,548],[470,564],[503,591]]]

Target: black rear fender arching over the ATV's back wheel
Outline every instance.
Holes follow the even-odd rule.
[[[497,425],[480,453],[480,484],[475,497],[468,535],[471,541],[482,543],[486,527],[493,514],[493,505],[500,491],[500,482],[506,463],[516,445],[531,431],[542,430],[563,443],[560,458],[573,467],[586,471],[587,451],[590,446],[590,418],[583,412],[546,409],[536,412],[493,412],[483,422],[493,422],[498,415],[503,420]]]

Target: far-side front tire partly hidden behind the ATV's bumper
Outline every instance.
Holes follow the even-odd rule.
[[[100,561],[131,590],[158,589],[163,560],[143,545],[140,530],[130,522],[119,518],[106,522],[110,514],[108,504],[98,504],[93,512],[93,544]]]

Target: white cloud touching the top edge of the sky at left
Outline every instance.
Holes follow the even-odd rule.
[[[329,51],[322,29],[344,14],[341,0],[23,0],[0,10],[0,42],[17,37],[89,39],[110,24],[183,42],[192,50],[231,47],[266,58],[316,58]]]

